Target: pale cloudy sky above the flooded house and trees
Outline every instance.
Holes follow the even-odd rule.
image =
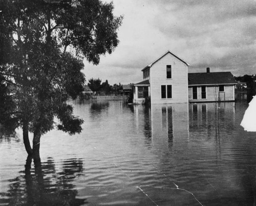
[[[105,0],[104,2],[110,2]],[[109,84],[143,81],[142,68],[171,51],[188,73],[256,74],[256,0],[113,0],[119,44],[84,74]]]

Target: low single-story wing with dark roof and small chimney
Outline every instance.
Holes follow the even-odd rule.
[[[230,72],[188,74],[188,102],[234,101],[237,84]]]

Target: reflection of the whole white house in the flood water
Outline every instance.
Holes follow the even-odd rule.
[[[158,148],[185,147],[198,137],[220,145],[220,133],[232,132],[235,121],[234,102],[135,105],[134,113],[137,129]]]

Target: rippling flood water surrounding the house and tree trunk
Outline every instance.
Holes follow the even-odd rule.
[[[248,104],[74,103],[81,134],[0,139],[0,205],[255,205],[256,133]]]

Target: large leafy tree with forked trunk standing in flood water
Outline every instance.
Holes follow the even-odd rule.
[[[39,154],[41,135],[55,126],[81,131],[67,100],[83,89],[83,58],[98,64],[117,47],[122,17],[113,8],[99,0],[0,0],[0,124],[23,128],[28,154]]]

